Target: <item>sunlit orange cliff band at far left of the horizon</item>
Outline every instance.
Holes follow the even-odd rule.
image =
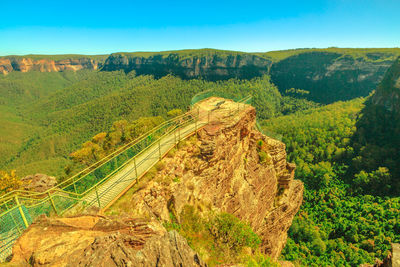
[[[99,62],[91,58],[77,59],[32,59],[29,57],[3,57],[0,58],[0,73],[8,74],[12,71],[28,72],[54,72],[81,69],[96,70],[99,67]]]

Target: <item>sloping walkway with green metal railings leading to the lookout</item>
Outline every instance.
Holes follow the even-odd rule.
[[[209,93],[192,101],[192,106],[209,97],[204,97]],[[230,111],[233,114],[244,107],[241,104],[250,104],[251,96],[237,102],[238,108]],[[200,113],[193,107],[46,192],[15,190],[3,195],[0,198],[0,262],[11,254],[15,240],[38,216],[62,215],[73,208],[106,207],[123,188],[154,166],[170,147],[209,123],[210,112]]]

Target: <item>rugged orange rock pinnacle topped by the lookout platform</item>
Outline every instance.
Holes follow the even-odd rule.
[[[210,110],[220,100],[209,99],[200,108]],[[255,109],[247,106],[230,117],[233,109],[237,104],[225,101],[196,140],[164,160],[166,167],[133,196],[132,212],[165,221],[171,212],[179,220],[186,205],[202,213],[228,212],[248,222],[262,238],[262,250],[276,259],[302,203],[303,184],[293,180],[285,144],[254,129]],[[267,160],[261,161],[261,151]]]

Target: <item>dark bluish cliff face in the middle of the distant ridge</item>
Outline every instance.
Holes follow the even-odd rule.
[[[202,53],[197,50],[190,55],[170,52],[153,53],[141,56],[136,53],[111,54],[102,70],[135,70],[138,75],[149,74],[162,77],[167,74],[180,76],[184,79],[204,78],[206,80],[221,80],[229,78],[250,79],[268,73],[271,61],[256,55],[238,52],[219,53],[211,51]]]

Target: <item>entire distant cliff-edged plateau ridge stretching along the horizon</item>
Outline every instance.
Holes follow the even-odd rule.
[[[0,72],[101,69],[135,70],[156,78],[167,74],[208,81],[271,76],[281,93],[306,90],[307,99],[332,103],[367,96],[400,55],[399,48],[293,49],[246,53],[216,49],[111,55],[27,55],[0,57]]]

